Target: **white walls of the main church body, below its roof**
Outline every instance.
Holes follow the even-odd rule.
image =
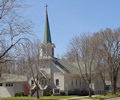
[[[45,66],[45,67],[44,67]],[[59,69],[59,66],[56,66],[50,60],[44,60],[41,62],[40,66],[41,70],[44,70],[48,75],[50,75],[50,88],[60,88],[60,90],[80,90],[80,91],[88,91],[87,84],[80,78],[78,75],[73,74],[65,74]],[[56,86],[56,79],[59,79],[60,85]],[[76,85],[77,80],[77,85]],[[73,86],[72,86],[73,81]],[[94,90],[102,90],[102,81],[93,81]],[[31,84],[31,80],[29,80],[29,84]]]

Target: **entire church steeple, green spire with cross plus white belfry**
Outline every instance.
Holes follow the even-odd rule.
[[[55,45],[52,43],[50,35],[50,27],[47,14],[47,4],[46,4],[46,17],[45,17],[45,26],[44,26],[44,35],[43,43],[40,44],[40,57],[41,58],[54,58],[54,48]]]

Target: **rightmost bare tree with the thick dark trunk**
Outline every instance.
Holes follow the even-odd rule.
[[[112,94],[116,94],[116,82],[119,72],[119,55],[120,55],[120,29],[99,31],[101,46],[99,51],[106,59],[108,73],[111,79]]]

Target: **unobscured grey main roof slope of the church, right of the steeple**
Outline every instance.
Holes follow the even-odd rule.
[[[70,61],[58,59],[54,62],[57,66],[61,68],[66,73],[79,74],[79,69]]]

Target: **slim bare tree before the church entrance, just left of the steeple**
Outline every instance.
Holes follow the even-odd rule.
[[[21,69],[24,66],[27,68],[27,72],[28,70],[30,71],[29,74],[31,75],[28,75],[28,76],[30,76],[30,78],[33,77],[33,80],[35,82],[34,89],[35,91],[37,91],[37,98],[39,98],[39,90],[40,90],[39,84],[40,84],[40,78],[41,78],[39,73],[40,64],[41,64],[39,45],[40,45],[40,41],[34,40],[34,42],[26,41],[24,45],[21,46],[22,48],[21,58],[22,59],[24,58],[24,61],[22,61],[22,59],[19,59],[19,60],[24,62],[23,63],[24,65],[22,64],[21,67],[18,67],[18,69]],[[18,60],[17,66],[19,66],[22,63],[22,62],[19,62],[19,60]],[[23,70],[21,70],[21,72],[23,72]]]

